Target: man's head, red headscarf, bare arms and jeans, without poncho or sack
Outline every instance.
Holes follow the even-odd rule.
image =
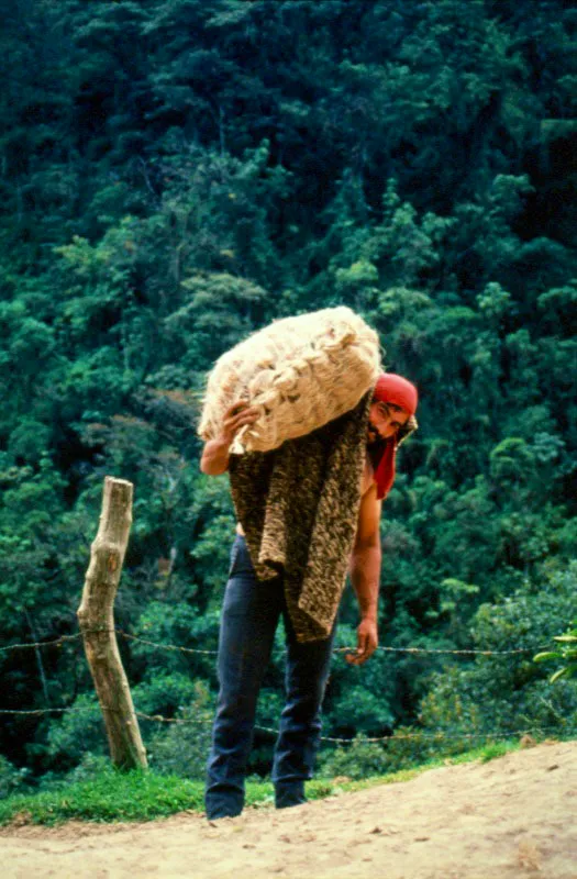
[[[380,508],[395,480],[399,434],[414,415],[417,403],[417,389],[410,381],[393,374],[379,376],[369,410],[360,508],[349,561],[351,582],[360,610],[356,654],[347,656],[353,665],[365,663],[378,645]],[[235,435],[257,416],[258,410],[248,403],[236,403],[228,410],[221,436],[204,445],[202,472],[219,476],[228,470],[229,449]],[[328,638],[297,641],[287,612],[282,575],[264,582],[257,579],[238,523],[219,639],[220,692],[206,790],[207,816],[211,820],[242,812],[256,700],[280,616],[287,641],[287,701],[273,765],[277,809],[306,802],[304,781],[312,777],[320,739],[320,710],[335,626]]]

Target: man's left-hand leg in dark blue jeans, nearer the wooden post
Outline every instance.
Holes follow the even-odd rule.
[[[243,537],[233,546],[219,638],[219,701],[208,763],[207,817],[237,815],[256,700],[282,605],[280,580],[259,582]]]

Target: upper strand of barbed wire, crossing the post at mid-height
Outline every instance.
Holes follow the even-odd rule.
[[[54,638],[52,641],[36,641],[36,642],[26,642],[24,644],[8,644],[0,647],[0,653],[5,653],[8,650],[16,650],[16,649],[38,649],[41,647],[55,647],[64,644],[66,642],[78,641],[79,638],[84,637],[87,634],[93,633],[115,633],[121,637],[125,638],[126,641],[133,641],[138,644],[145,644],[148,647],[154,647],[155,649],[159,650],[171,650],[177,653],[184,654],[199,654],[202,656],[217,656],[218,650],[207,650],[201,649],[199,647],[182,647],[177,644],[160,644],[156,641],[149,641],[148,638],[143,638],[141,635],[132,635],[129,632],[124,632],[122,628],[85,628],[82,631],[76,632],[71,635],[60,635],[58,638]],[[547,649],[547,645],[545,646],[536,646],[536,647],[514,647],[508,650],[489,650],[489,649],[474,649],[474,648],[466,648],[466,649],[450,649],[450,648],[439,648],[439,647],[392,647],[392,646],[379,646],[377,647],[377,652],[379,653],[392,653],[392,654],[409,654],[409,655],[419,655],[419,654],[430,654],[430,655],[437,655],[437,656],[514,656],[520,654],[535,654],[540,650]],[[334,647],[333,653],[355,653],[356,647]]]

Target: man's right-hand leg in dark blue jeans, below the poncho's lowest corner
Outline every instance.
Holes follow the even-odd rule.
[[[312,778],[321,735],[321,705],[336,626],[330,637],[299,644],[285,613],[287,703],[275,747],[273,782],[277,809],[306,802],[304,781]]]

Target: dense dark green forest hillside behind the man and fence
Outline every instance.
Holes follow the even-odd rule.
[[[2,716],[2,792],[107,753],[80,642],[4,649],[77,631],[104,475],[135,486],[118,625],[213,650],[234,515],[198,466],[207,371],[342,303],[421,394],[384,507],[381,644],[524,653],[335,656],[324,733],[360,744],[321,767],[381,772],[439,753],[432,734],[575,733],[575,681],[532,655],[576,615],[577,10],[0,12],[0,709],[80,709]],[[340,645],[356,622],[348,590]],[[120,646],[138,711],[202,721],[143,721],[152,766],[200,778],[214,656]],[[259,726],[281,704],[279,633]],[[392,731],[414,737],[363,744]],[[257,732],[253,771],[273,742]]]

